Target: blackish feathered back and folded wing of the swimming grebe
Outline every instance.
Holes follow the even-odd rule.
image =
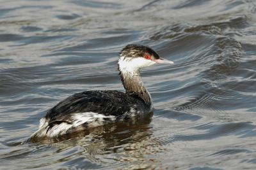
[[[66,121],[72,113],[92,111],[103,115],[125,118],[131,107],[143,108],[143,101],[123,92],[114,90],[93,90],[74,94],[51,108],[45,116],[51,122]],[[128,115],[127,115],[128,116]]]

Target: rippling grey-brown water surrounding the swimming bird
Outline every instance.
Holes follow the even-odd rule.
[[[1,1],[1,169],[256,169],[253,0]],[[175,62],[144,69],[154,115],[26,142],[56,103],[124,90],[129,43]]]

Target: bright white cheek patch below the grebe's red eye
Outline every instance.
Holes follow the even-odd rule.
[[[156,62],[150,59],[144,59],[143,57],[136,57],[132,59],[120,57],[118,60],[120,70],[130,72],[138,71],[138,69],[152,66],[153,64],[156,64]]]

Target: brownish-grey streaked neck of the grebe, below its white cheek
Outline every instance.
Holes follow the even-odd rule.
[[[136,71],[120,70],[120,67],[118,67],[118,69],[120,71],[119,74],[120,74],[122,83],[124,85],[125,92],[132,96],[139,97],[151,109],[152,108],[151,96],[143,85],[139,70],[136,70]]]

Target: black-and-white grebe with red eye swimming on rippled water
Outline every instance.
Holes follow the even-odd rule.
[[[31,138],[51,138],[91,127],[127,120],[153,110],[152,99],[140,77],[140,69],[156,63],[173,64],[142,45],[127,45],[120,52],[118,71],[125,93],[93,90],[74,94],[47,112]]]

